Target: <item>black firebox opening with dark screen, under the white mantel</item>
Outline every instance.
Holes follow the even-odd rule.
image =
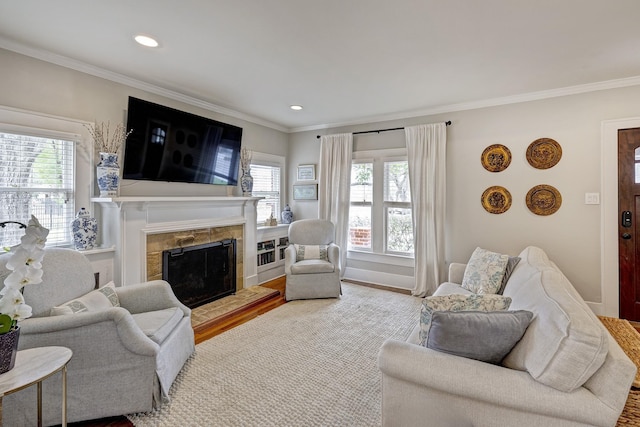
[[[162,279],[195,308],[236,291],[236,239],[162,251]]]

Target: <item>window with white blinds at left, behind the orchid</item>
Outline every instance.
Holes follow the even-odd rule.
[[[0,220],[26,224],[35,215],[49,229],[47,244],[70,244],[74,154],[73,141],[0,131]],[[23,234],[0,228],[0,242],[16,245]]]

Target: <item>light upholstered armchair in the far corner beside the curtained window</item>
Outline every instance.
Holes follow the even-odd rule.
[[[331,221],[302,219],[289,225],[285,250],[287,301],[340,296],[340,248]]]

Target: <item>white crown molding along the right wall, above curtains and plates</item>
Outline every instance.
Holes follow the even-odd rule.
[[[596,92],[599,90],[618,89],[629,86],[640,85],[640,76],[628,77],[623,79],[606,80],[596,83],[588,83],[583,85],[568,86],[559,89],[543,90],[538,92],[529,92],[520,95],[505,96],[500,98],[491,98],[480,101],[464,102],[459,104],[442,105],[423,110],[411,110],[399,113],[383,114],[378,116],[363,117],[352,121],[326,123],[321,125],[312,125],[291,128],[290,133],[306,132],[312,130],[333,129],[343,126],[354,126],[371,124],[378,122],[386,122],[392,120],[409,119],[413,117],[432,116],[436,114],[446,114],[455,111],[476,110],[479,108],[497,107],[500,105],[518,104],[522,102],[539,101],[542,99],[557,98],[568,95],[578,95],[581,93]]]

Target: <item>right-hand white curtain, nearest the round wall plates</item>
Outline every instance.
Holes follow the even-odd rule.
[[[444,123],[405,127],[413,213],[413,295],[431,295],[444,279],[446,141]]]

